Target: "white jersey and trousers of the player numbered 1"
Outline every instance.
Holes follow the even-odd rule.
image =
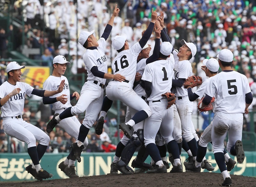
[[[167,107],[167,99],[161,95],[170,92],[172,88],[174,58],[167,60],[157,60],[148,64],[145,68],[142,80],[151,82],[151,94],[148,97],[148,104],[152,111],[152,115],[145,119],[144,124],[144,144],[154,143],[156,133],[161,126],[161,135],[168,144],[174,140],[173,132],[173,106]]]

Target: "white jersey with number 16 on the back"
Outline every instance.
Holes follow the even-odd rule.
[[[114,74],[121,74],[129,83],[134,83],[137,67],[137,57],[142,48],[139,42],[135,43],[131,49],[121,51],[112,62]]]

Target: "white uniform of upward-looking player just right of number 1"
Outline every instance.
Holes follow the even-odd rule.
[[[177,51],[173,51],[173,56],[175,60],[174,64],[174,79],[178,78],[188,78],[189,76],[192,76],[192,67],[191,63],[188,60],[179,61],[179,57],[177,56]],[[181,88],[176,87],[176,101],[175,104],[177,107],[177,111],[179,113],[180,117],[180,123],[181,123],[181,130],[182,130],[182,137],[186,140],[186,142],[189,142],[193,138],[196,139],[196,141],[199,140],[199,138],[196,135],[195,127],[192,123],[192,111],[193,111],[193,102],[189,101],[188,99],[188,90],[185,89],[183,86]],[[177,114],[175,112],[174,114]],[[174,119],[179,119],[178,117],[175,117]],[[180,134],[180,126],[179,121],[174,121],[174,131],[173,136],[175,137],[175,140],[180,143],[182,141],[182,137]]]

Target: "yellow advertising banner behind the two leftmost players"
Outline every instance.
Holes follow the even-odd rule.
[[[44,66],[26,66],[21,69],[21,81],[28,83],[30,86],[39,86],[43,89],[44,81],[50,76],[50,67]]]

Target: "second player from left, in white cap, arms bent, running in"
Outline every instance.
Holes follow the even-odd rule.
[[[43,103],[53,104],[52,110],[54,110],[55,113],[61,113],[66,108],[72,106],[70,104],[70,100],[74,99],[75,97],[76,100],[78,100],[80,95],[76,91],[72,95],[70,95],[68,79],[65,76],[63,76],[67,69],[67,65],[70,65],[70,62],[66,61],[66,58],[64,56],[58,55],[54,57],[52,64],[52,75],[49,76],[44,82],[43,89],[55,90],[56,88],[58,88],[60,80],[65,80],[65,86],[61,93],[58,93],[51,97],[44,97]],[[77,140],[81,124],[79,120],[76,118],[76,116],[72,116],[70,118],[61,120],[58,126],[65,130],[71,137]],[[84,147],[86,147],[87,145],[88,139],[86,137],[84,140]],[[65,161],[59,164],[59,168],[70,178],[78,177],[75,171],[75,162],[76,157],[74,155],[73,149],[71,148],[68,157]]]

